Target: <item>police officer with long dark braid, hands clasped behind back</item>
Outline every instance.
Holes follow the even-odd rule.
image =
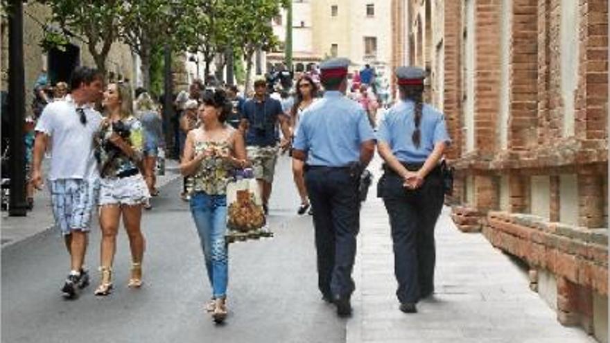
[[[397,296],[404,313],[434,291],[434,227],[444,195],[439,160],[451,143],[444,116],[422,103],[424,70],[399,67],[399,102],[385,115],[377,148],[385,160],[378,185],[390,216]]]

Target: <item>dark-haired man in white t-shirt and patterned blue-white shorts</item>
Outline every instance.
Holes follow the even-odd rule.
[[[62,292],[74,297],[89,284],[83,268],[87,233],[98,201],[99,173],[94,155],[94,137],[102,116],[92,108],[103,96],[103,76],[96,69],[77,67],[72,73],[71,96],[50,103],[35,127],[32,182],[42,189],[42,158],[53,146],[51,170],[47,175],[55,226],[70,254],[71,272]]]

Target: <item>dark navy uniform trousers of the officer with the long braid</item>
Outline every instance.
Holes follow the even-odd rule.
[[[408,165],[417,170],[421,164]],[[402,303],[417,303],[434,290],[434,227],[441,213],[444,193],[440,168],[435,168],[419,188],[403,187],[403,179],[385,168],[380,195],[390,216],[394,243],[396,292]]]

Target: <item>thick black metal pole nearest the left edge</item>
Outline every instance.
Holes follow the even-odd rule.
[[[23,2],[10,1],[8,17],[8,111],[10,114],[9,216],[24,217],[26,206],[26,159],[24,141],[25,73]]]

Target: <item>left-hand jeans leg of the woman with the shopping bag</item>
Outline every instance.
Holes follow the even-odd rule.
[[[213,286],[213,274],[211,263],[211,200],[209,195],[195,193],[191,196],[191,215],[195,221],[197,234],[201,244],[201,249],[205,261],[205,269],[210,285]]]

